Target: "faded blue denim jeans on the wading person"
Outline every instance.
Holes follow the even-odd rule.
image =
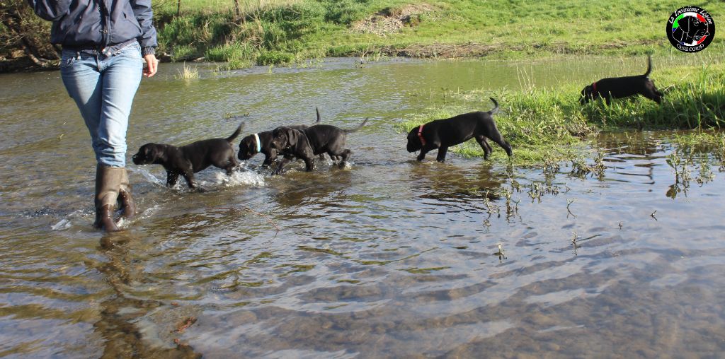
[[[138,43],[110,56],[63,50],[60,62],[63,84],[91,132],[96,161],[102,166],[126,164],[128,115],[143,69]]]

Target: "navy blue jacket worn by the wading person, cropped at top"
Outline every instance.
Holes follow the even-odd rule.
[[[106,47],[133,38],[144,55],[154,54],[156,28],[151,0],[28,0],[33,10],[53,22],[51,43]]]

